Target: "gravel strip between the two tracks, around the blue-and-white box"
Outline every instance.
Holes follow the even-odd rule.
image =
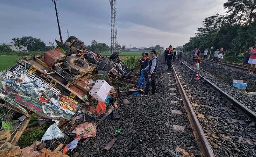
[[[191,66],[192,59],[191,57],[183,56],[182,62]],[[248,109],[256,113],[256,97],[252,97],[243,92],[243,90],[233,87],[233,79],[244,79],[245,83],[247,83],[247,88],[255,86],[254,90],[256,91],[256,74],[243,73],[240,69],[224,65],[218,66],[216,63],[207,61],[200,64],[200,69],[201,68],[210,73],[201,71],[205,78],[209,79],[221,88],[221,90],[225,91]]]

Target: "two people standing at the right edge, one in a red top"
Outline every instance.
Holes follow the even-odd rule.
[[[244,62],[242,66],[246,64],[248,69],[246,72],[253,74],[256,65],[256,44],[254,45],[254,48],[250,47],[249,50],[244,53]],[[251,65],[253,66],[252,70]]]

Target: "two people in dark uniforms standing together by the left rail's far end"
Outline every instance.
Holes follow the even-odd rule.
[[[168,66],[167,71],[171,71],[171,65],[172,62],[175,60],[177,55],[177,50],[175,50],[175,47],[172,48],[172,46],[170,45],[168,48],[166,47],[164,50],[164,58],[165,58],[165,63]]]

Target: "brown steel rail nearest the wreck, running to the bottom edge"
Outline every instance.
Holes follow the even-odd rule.
[[[187,111],[187,115],[189,117],[190,124],[191,124],[192,128],[195,130],[195,134],[196,134],[195,138],[197,138],[199,145],[201,146],[201,150],[205,157],[215,157],[213,150],[211,149],[211,146],[204,134],[202,126],[201,126],[199,120],[197,119],[195,111],[194,111],[192,105],[190,104],[189,98],[187,97],[187,94],[180,82],[180,79],[178,78],[178,75],[177,75],[174,67],[173,67],[173,73],[174,73],[175,80],[178,85],[179,91],[182,96],[183,104],[185,104],[185,109]]]

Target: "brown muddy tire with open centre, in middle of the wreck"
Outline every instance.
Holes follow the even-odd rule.
[[[86,74],[90,69],[85,60],[74,56],[67,56],[64,65],[72,74]]]

